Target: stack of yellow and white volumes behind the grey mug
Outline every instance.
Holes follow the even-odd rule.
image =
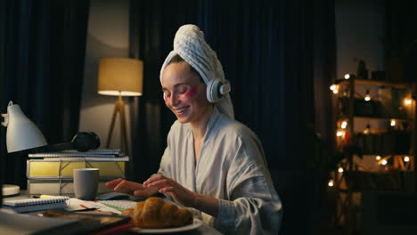
[[[120,150],[64,150],[29,154],[27,162],[28,195],[74,195],[73,171],[99,168],[98,194],[112,191],[104,183],[125,177],[128,156]]]

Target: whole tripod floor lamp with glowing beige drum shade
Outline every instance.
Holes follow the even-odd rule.
[[[119,96],[114,105],[106,148],[110,148],[116,117],[120,120],[120,150],[128,154],[125,101],[123,96],[141,96],[143,61],[128,58],[102,58],[99,63],[98,93]]]

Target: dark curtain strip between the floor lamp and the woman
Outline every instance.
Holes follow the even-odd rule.
[[[159,168],[175,116],[165,107],[159,69],[173,48],[176,29],[196,23],[198,1],[131,1],[130,57],[143,60],[143,96],[130,101],[132,158],[127,176],[143,182]]]

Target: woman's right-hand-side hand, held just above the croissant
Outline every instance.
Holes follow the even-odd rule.
[[[143,182],[143,186],[159,188],[160,193],[168,193],[169,196],[181,203],[184,207],[194,207],[197,193],[185,189],[172,178],[165,177],[161,174],[154,174],[151,178]]]

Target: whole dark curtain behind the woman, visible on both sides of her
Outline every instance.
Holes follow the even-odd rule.
[[[172,50],[176,29],[193,22],[193,7],[197,7],[196,24],[217,52],[231,82],[235,118],[263,143],[284,207],[282,234],[313,233],[321,216],[314,212],[323,206],[320,199],[326,174],[313,160],[321,158],[322,165],[327,160],[315,156],[321,152],[315,151],[315,142],[324,143],[320,148],[329,148],[334,137],[328,88],[336,76],[333,2],[140,2],[143,6],[131,11],[143,15],[143,26],[130,27],[131,33],[136,28],[142,28],[142,33],[131,37],[130,45],[140,48],[139,55],[133,56],[145,63],[146,88],[139,118],[135,118],[139,137],[134,136],[137,162],[131,170],[141,177],[142,171],[147,173],[143,175],[146,178],[158,168],[174,121],[163,107],[159,69]],[[186,4],[186,11],[182,4]],[[164,10],[167,7],[169,12]],[[177,15],[180,12],[182,15]]]

